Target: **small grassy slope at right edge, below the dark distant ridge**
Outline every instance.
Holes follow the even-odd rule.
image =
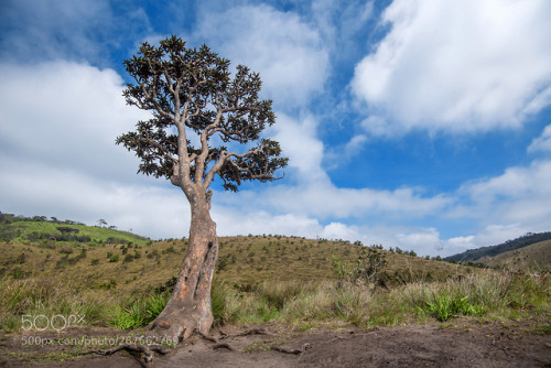
[[[495,257],[483,257],[477,262],[497,269],[522,268],[534,271],[549,271],[551,266],[551,240],[509,250]]]

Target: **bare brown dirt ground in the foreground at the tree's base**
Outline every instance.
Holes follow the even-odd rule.
[[[251,328],[266,333],[249,335]],[[85,354],[93,338],[108,346],[134,335],[114,329],[71,329],[0,335],[0,367],[551,367],[551,335],[521,323],[457,320],[423,325],[360,329],[290,326],[223,327],[218,342],[194,336],[145,365],[141,356],[119,351]],[[76,342],[76,343],[75,343]],[[235,349],[230,350],[228,347]]]

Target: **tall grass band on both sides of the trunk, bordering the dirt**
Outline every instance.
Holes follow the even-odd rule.
[[[71,283],[9,278],[0,286],[0,327],[4,332],[24,327],[25,315],[85,315],[86,325],[139,328],[153,321],[170,297],[166,291],[123,297],[112,297],[112,291],[105,291],[111,297],[86,296],[85,290]],[[294,281],[263,282],[239,291],[215,282],[212,304],[215,325],[278,321],[307,326],[341,321],[367,327],[428,318],[446,322],[463,315],[518,320],[530,311],[549,311],[549,277],[495,272],[432,283],[418,281],[390,290],[342,285],[337,281]]]

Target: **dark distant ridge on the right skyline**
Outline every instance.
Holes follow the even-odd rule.
[[[514,251],[517,249],[521,249],[523,247],[531,246],[533,243],[540,242],[540,241],[545,241],[545,240],[551,240],[551,231],[548,232],[540,232],[540,234],[531,234],[528,232],[527,235],[519,237],[514,240],[507,240],[504,243],[497,245],[497,246],[491,246],[491,247],[482,247],[477,249],[471,249],[467,250],[463,253],[454,255],[444,258],[445,261],[454,261],[454,262],[478,262],[479,259],[484,258],[489,258],[489,257],[496,257],[498,255],[508,252],[508,251]]]

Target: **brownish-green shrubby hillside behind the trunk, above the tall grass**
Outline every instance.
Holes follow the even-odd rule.
[[[222,237],[215,278],[238,288],[263,281],[336,279],[335,256],[352,267],[363,246],[345,241],[280,236]],[[83,243],[41,240],[1,242],[0,277],[60,278],[89,290],[142,293],[177,275],[187,240],[143,243]],[[380,250],[388,263],[380,279],[388,285],[411,280],[442,280],[476,269]]]

